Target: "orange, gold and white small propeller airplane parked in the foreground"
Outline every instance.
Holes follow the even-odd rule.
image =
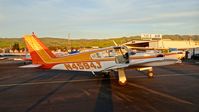
[[[24,36],[25,44],[32,58],[32,64],[21,68],[45,68],[70,71],[90,71],[110,73],[118,71],[119,84],[127,82],[125,70],[148,70],[153,77],[154,66],[171,65],[180,62],[177,58],[157,56],[134,56],[125,46],[112,46],[91,51],[56,57],[33,33]]]

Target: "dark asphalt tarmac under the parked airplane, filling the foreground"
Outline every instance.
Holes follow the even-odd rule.
[[[199,112],[199,65],[155,67],[155,77],[22,69],[0,62],[0,112]]]

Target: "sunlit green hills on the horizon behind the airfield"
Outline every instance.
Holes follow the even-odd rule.
[[[113,40],[118,43],[126,43],[132,40],[141,40],[140,36],[110,38],[110,39],[71,39],[68,41],[63,38],[40,38],[44,44],[51,50],[67,49],[69,46],[73,48],[89,48],[93,46],[107,47],[114,46]],[[199,35],[163,35],[163,39],[171,40],[195,40],[199,41]],[[19,44],[20,49],[25,48],[25,43],[22,38],[0,38],[0,48],[12,48],[14,44]]]

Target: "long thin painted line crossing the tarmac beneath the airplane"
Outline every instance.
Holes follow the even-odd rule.
[[[198,75],[198,73],[192,73],[192,74],[165,74],[165,75],[156,75],[155,77],[169,77],[169,76],[189,76],[189,75]],[[136,79],[136,78],[145,78],[147,76],[134,76],[129,77],[128,79]],[[110,78],[111,80],[114,80],[116,78]],[[28,83],[13,83],[13,84],[1,84],[0,87],[10,87],[10,86],[28,86],[28,85],[42,85],[42,84],[60,84],[60,83],[75,83],[75,82],[87,82],[87,81],[101,81],[106,79],[82,79],[82,80],[62,80],[62,81],[43,81],[43,82],[28,82]],[[108,80],[108,79],[107,79]]]

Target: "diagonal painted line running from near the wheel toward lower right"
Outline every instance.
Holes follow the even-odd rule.
[[[148,91],[150,93],[153,93],[153,94],[165,97],[165,98],[169,98],[171,100],[174,100],[174,101],[177,101],[177,102],[180,102],[180,103],[185,103],[185,104],[193,105],[192,102],[189,102],[189,101],[186,101],[186,100],[183,100],[183,99],[180,99],[180,98],[177,98],[175,96],[171,96],[171,95],[159,92],[159,91],[152,90],[152,89],[147,88],[145,86],[141,86],[141,85],[138,85],[138,84],[135,84],[135,83],[131,83],[131,82],[128,82],[128,85],[134,86],[134,87],[139,88],[139,89],[143,89],[143,90]]]

